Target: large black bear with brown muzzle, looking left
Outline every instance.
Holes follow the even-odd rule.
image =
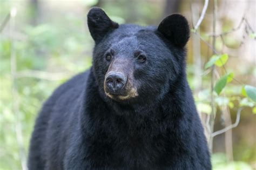
[[[119,25],[92,8],[87,23],[92,67],[45,102],[29,169],[211,169],[186,80],[186,18]]]

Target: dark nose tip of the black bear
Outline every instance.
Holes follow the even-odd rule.
[[[119,72],[110,72],[106,76],[106,87],[113,94],[119,94],[126,83],[124,74]]]

